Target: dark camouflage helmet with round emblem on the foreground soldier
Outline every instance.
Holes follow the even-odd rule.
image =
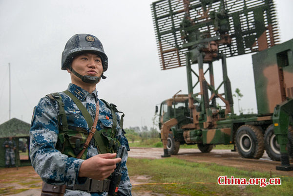
[[[68,40],[62,52],[61,69],[66,70],[75,56],[85,52],[98,54],[102,59],[103,71],[108,69],[108,57],[102,43],[96,36],[90,34],[76,34]]]

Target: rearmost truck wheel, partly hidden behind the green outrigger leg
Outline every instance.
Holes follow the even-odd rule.
[[[265,133],[265,148],[267,154],[273,161],[280,161],[280,145],[277,142],[277,137],[273,132],[273,125],[270,125]]]

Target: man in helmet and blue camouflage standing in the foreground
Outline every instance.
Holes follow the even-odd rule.
[[[126,167],[129,146],[125,132],[121,129],[123,120],[117,110],[113,115],[113,109],[98,98],[96,90],[96,84],[101,78],[105,79],[103,73],[107,70],[107,56],[102,43],[93,35],[74,35],[65,45],[62,69],[67,70],[71,76],[72,83],[67,91],[43,97],[34,109],[30,129],[30,158],[34,169],[44,182],[66,185],[65,196],[107,196],[107,191],[92,191],[85,188],[84,184],[94,187],[95,180],[106,180],[121,161],[122,177],[118,195],[131,196],[132,186]],[[71,97],[68,96],[70,93]],[[101,152],[95,135],[82,158],[75,158],[80,151],[79,147],[83,147],[90,127],[73,98],[83,104],[92,120],[96,115],[96,103],[99,103],[95,135],[101,132],[104,134],[105,130],[113,130],[114,127],[114,136],[108,134],[108,137],[103,138],[104,141],[105,138],[109,139],[108,143],[119,144],[118,155],[121,154],[122,147],[125,147],[122,159],[115,158],[116,153],[111,153],[113,148],[111,149],[110,145],[105,149],[110,153]],[[89,178],[92,180],[87,183]]]

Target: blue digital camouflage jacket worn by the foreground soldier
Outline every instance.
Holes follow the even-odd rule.
[[[96,90],[89,94],[86,90],[74,84],[69,84],[67,90],[83,103],[93,120],[96,113],[96,100],[99,101],[100,107],[97,131],[100,131],[104,127],[112,127],[113,120],[111,110],[106,107],[103,101],[98,99]],[[64,92],[61,92],[60,95],[64,103],[68,126],[71,125],[84,128],[89,132],[88,125],[76,104]],[[73,186],[75,183],[79,184],[84,182],[84,179],[78,177],[80,166],[84,160],[68,157],[55,149],[59,133],[58,112],[58,102],[50,99],[48,96],[43,97],[35,108],[30,129],[30,158],[34,169],[41,176],[43,181],[49,184]],[[120,128],[118,113],[116,113],[116,115],[119,120],[116,128],[118,131],[117,138],[119,138],[119,136],[121,137],[120,143],[122,145],[118,152],[121,151],[123,146],[129,151],[128,141]],[[125,150],[121,161],[120,172],[122,173],[122,178],[118,189],[118,193],[121,196],[131,196],[132,186],[126,167],[127,151]],[[87,149],[86,158],[90,158],[97,154],[98,151],[92,138]],[[64,196],[107,196],[107,192],[90,194],[84,191],[66,189]]]

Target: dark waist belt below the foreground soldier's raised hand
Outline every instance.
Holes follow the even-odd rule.
[[[87,178],[84,184],[74,184],[72,187],[66,186],[66,189],[80,190],[86,192],[108,192],[111,180],[94,180]]]

